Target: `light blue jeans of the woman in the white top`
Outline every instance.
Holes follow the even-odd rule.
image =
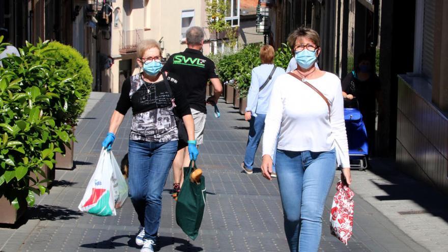
[[[277,150],[277,180],[291,251],[319,249],[322,212],[335,171],[334,149],[327,152]]]

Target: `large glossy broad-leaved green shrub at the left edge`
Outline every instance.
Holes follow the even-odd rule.
[[[0,44],[0,52],[6,45]],[[2,217],[4,223],[33,206],[35,194],[48,192],[42,169],[53,169],[55,153],[74,139],[62,116],[78,87],[65,70],[53,67],[46,45],[26,43],[20,57],[3,59],[0,68],[0,208],[15,211]]]

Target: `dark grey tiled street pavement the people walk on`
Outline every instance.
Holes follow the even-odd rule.
[[[0,228],[0,251],[138,251],[133,241],[138,221],[129,200],[117,216],[98,217],[77,211],[117,100],[117,94],[92,93],[76,129],[75,169],[57,171],[50,194],[37,199],[38,205],[27,212],[27,220],[18,227]],[[219,107],[221,118],[208,114],[198,160],[209,193],[200,235],[192,241],[176,224],[175,202],[168,192],[170,174],[163,192],[157,250],[288,251],[276,181],[265,180],[259,172],[241,172],[248,124],[230,105],[220,101]],[[119,162],[127,152],[130,114],[114,143]],[[259,150],[258,157],[260,154]],[[353,172],[354,180],[358,175],[362,172]],[[329,234],[328,207],[333,193],[331,190],[327,199],[320,251],[426,251],[359,197],[355,197],[354,235],[348,246],[343,245]]]

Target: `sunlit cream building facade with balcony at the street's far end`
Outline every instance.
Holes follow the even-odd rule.
[[[103,92],[118,93],[123,81],[139,71],[136,65],[136,46],[143,39],[160,42],[162,57],[185,50],[185,33],[191,26],[205,30],[203,53],[217,51],[221,45],[210,38],[207,29],[206,1],[149,1],[114,0],[111,3],[110,38],[101,40],[100,55],[109,68],[101,67]],[[239,25],[239,0],[229,0],[226,18],[233,26]],[[108,64],[106,64],[107,66]]]

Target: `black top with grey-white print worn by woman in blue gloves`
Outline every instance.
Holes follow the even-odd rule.
[[[175,99],[176,114],[179,117],[190,115],[182,82],[173,73],[168,74],[167,80]],[[171,98],[163,80],[149,83],[143,80],[141,73],[127,78],[123,82],[115,110],[126,115],[132,107],[133,118],[129,139],[153,143],[178,140]]]

